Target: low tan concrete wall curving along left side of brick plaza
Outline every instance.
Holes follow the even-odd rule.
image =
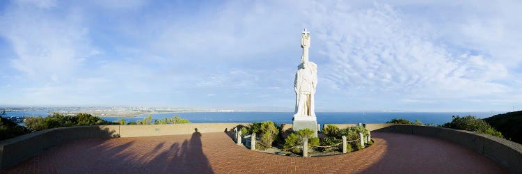
[[[189,123],[177,125],[101,125],[45,129],[0,141],[0,170],[38,155],[53,145],[79,139],[162,136],[198,132],[225,132],[251,123]]]

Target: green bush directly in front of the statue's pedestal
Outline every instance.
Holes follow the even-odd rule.
[[[314,131],[312,129],[301,129],[287,136],[283,148],[290,149],[292,152],[301,153],[301,145],[303,145],[303,138],[308,138],[308,149],[312,150],[312,145],[319,145],[319,139],[313,137]]]

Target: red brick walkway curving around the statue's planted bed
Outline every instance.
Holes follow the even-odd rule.
[[[73,141],[1,173],[508,173],[464,146],[411,134],[372,134],[345,155],[284,157],[235,145],[225,133]]]

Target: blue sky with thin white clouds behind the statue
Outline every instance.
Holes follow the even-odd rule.
[[[122,3],[124,2],[124,3]],[[521,1],[1,1],[0,105],[522,110]]]

